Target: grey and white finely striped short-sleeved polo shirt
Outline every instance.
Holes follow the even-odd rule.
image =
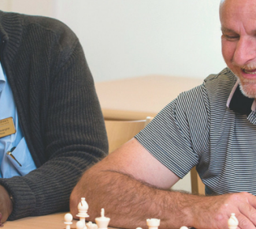
[[[229,68],[208,76],[135,136],[181,179],[196,166],[206,194],[256,194],[254,99],[243,96],[236,81]]]

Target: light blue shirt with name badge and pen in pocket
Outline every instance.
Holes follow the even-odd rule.
[[[2,178],[26,175],[34,170],[36,166],[19,125],[13,92],[9,87],[6,72],[3,71],[0,63],[0,120],[9,117],[13,117],[16,133],[0,138],[0,177]],[[13,147],[16,147],[12,152],[13,156],[22,165],[21,167],[12,157],[6,154]]]

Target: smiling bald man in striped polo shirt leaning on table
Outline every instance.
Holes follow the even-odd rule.
[[[184,92],[135,136],[84,173],[71,211],[87,197],[93,219],[104,207],[114,227],[239,228],[256,225],[256,1],[220,7],[222,53],[228,68]],[[194,166],[206,196],[170,191]],[[90,188],[87,188],[90,187]]]

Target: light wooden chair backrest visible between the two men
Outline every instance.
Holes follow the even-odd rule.
[[[147,117],[146,120],[105,120],[106,133],[109,139],[109,153],[131,140],[152,119],[152,117]]]

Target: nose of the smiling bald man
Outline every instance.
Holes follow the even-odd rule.
[[[256,59],[256,38],[240,37],[236,44],[233,62],[243,66]]]

